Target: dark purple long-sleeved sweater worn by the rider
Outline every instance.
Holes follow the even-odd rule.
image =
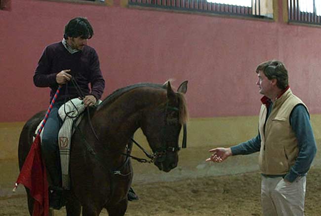
[[[96,51],[90,46],[84,46],[81,51],[71,54],[62,42],[58,42],[50,44],[44,49],[34,75],[34,83],[37,87],[51,88],[49,103],[58,88],[56,74],[68,69],[71,70],[71,75],[76,79],[85,95],[93,95],[97,100],[101,98],[105,88],[105,80],[100,71]],[[79,95],[76,88],[69,82],[68,85],[63,85],[56,101],[77,97]]]

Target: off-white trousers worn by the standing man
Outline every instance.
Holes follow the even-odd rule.
[[[263,216],[304,216],[306,177],[285,182],[282,177],[262,176],[261,205]]]

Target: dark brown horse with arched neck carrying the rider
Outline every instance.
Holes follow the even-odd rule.
[[[133,171],[126,145],[141,128],[154,152],[154,164],[169,172],[178,163],[178,140],[187,120],[184,94],[187,81],[174,92],[165,85],[141,83],[121,88],[83,117],[71,143],[71,190],[67,193],[68,216],[98,216],[105,208],[109,216],[123,216]],[[44,116],[37,113],[25,124],[19,141],[19,167],[26,159],[32,135]],[[96,133],[89,126],[89,119]],[[32,215],[33,198],[28,194]],[[53,215],[53,211],[50,211]]]

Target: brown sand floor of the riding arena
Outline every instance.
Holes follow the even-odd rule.
[[[306,216],[320,216],[321,169],[307,179]],[[197,178],[134,184],[139,201],[130,202],[126,216],[261,216],[260,174]],[[65,216],[65,210],[55,216]],[[101,216],[108,216],[103,210]],[[0,216],[28,216],[26,196],[0,199]]]

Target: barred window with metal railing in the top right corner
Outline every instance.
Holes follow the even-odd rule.
[[[288,0],[288,19],[289,22],[307,23],[321,25],[321,4],[316,4],[316,0],[311,2],[309,8],[302,7],[300,0]]]

